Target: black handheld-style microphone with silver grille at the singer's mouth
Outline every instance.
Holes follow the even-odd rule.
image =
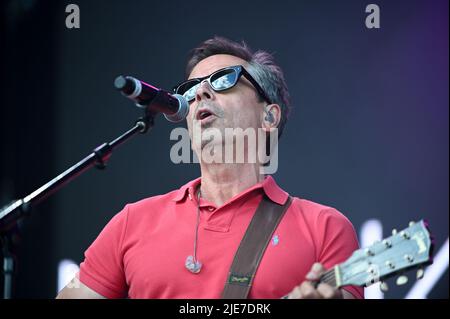
[[[164,113],[170,122],[181,122],[189,113],[189,102],[184,96],[170,94],[131,76],[118,76],[114,86],[138,107]]]

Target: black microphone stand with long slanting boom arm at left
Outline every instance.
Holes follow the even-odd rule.
[[[95,166],[98,169],[106,168],[106,163],[115,148],[125,143],[137,133],[144,134],[154,125],[153,113],[145,110],[143,117],[139,118],[134,126],[109,143],[103,143],[95,148],[91,154],[84,159],[53,178],[48,183],[42,185],[31,194],[22,199],[14,200],[9,205],[0,209],[0,243],[3,250],[3,274],[4,289],[3,298],[12,297],[13,276],[15,275],[14,255],[12,244],[16,236],[18,222],[31,213],[33,206],[36,206],[51,194],[61,189],[65,184],[71,182],[82,173]]]

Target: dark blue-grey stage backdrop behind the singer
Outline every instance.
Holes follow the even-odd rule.
[[[70,3],[80,9],[78,29],[65,25]],[[379,29],[365,25],[369,3],[380,8]],[[277,182],[292,195],[336,207],[362,242],[426,218],[440,259],[430,286],[419,290],[448,298],[447,0],[6,0],[0,6],[0,205],[33,191],[140,116],[114,90],[117,75],[169,89],[183,79],[187,52],[222,35],[274,53],[285,71],[294,109],[280,143]],[[196,164],[170,161],[175,127],[159,117],[150,134],[118,149],[106,170],[87,172],[36,208],[22,227],[16,297],[52,298],[60,262],[80,263],[126,203],[199,176]],[[391,284],[384,297],[412,294],[413,277],[402,287]]]

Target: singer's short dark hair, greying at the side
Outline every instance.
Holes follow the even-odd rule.
[[[186,78],[201,60],[216,54],[229,54],[248,62],[247,71],[262,87],[272,103],[278,104],[281,108],[281,119],[278,125],[278,136],[281,137],[291,107],[283,71],[275,63],[273,55],[265,51],[253,53],[244,41],[238,43],[215,36],[190,52],[186,65]],[[260,98],[262,100],[262,97]]]

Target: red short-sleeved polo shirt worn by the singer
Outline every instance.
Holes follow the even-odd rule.
[[[106,225],[85,252],[80,281],[107,298],[220,298],[239,243],[263,192],[283,204],[288,194],[266,177],[220,207],[200,200],[197,258],[193,254],[200,178],[179,190],[141,200]],[[349,220],[334,208],[293,198],[256,272],[249,298],[280,298],[305,280],[314,262],[326,268],[358,249]],[[355,297],[363,289],[346,287]]]

